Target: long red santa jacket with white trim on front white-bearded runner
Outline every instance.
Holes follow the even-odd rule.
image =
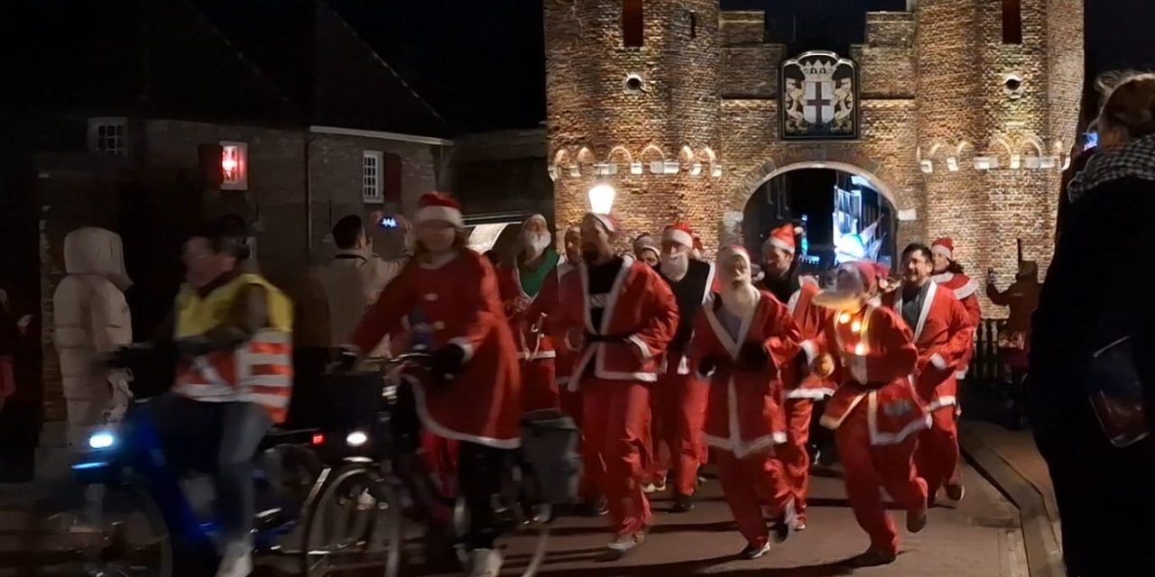
[[[702,305],[694,324],[692,365],[710,383],[706,405],[705,439],[710,447],[742,458],[787,442],[787,420],[778,402],[782,387],[777,367],[789,366],[798,353],[798,327],[785,305],[773,294],[759,291],[754,313],[744,319],[737,338],[718,321],[721,298],[713,295]],[[742,366],[740,351],[746,343],[760,343],[770,360],[760,370]],[[703,359],[716,364],[713,374],[701,374]]]

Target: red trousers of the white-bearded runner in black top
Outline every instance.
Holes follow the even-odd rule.
[[[672,469],[677,482],[675,490],[693,495],[698,486],[698,467],[706,463],[707,456],[702,427],[706,425],[709,387],[692,374],[666,373],[658,376],[653,395],[651,433],[657,465],[651,477],[654,480],[664,479]],[[664,445],[669,458],[658,452],[660,445]]]

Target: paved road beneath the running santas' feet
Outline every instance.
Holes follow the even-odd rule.
[[[733,559],[745,544],[733,527],[717,482],[709,481],[702,489],[699,507],[691,514],[665,512],[670,502],[658,495],[655,500],[657,524],[646,545],[624,561],[596,561],[608,539],[604,519],[560,519],[550,541],[551,553],[543,575],[1028,577],[1018,511],[974,470],[967,467],[963,474],[968,485],[967,499],[957,508],[934,508],[926,530],[917,535],[903,535],[903,553],[887,567],[851,570],[844,564],[845,560],[866,548],[867,540],[845,503],[841,479],[836,472],[829,472],[815,479],[810,529],[795,533],[761,560]],[[15,561],[33,546],[31,544],[47,544],[53,539],[51,534],[21,534],[21,527],[28,526],[28,515],[21,510],[22,504],[27,503],[12,500],[0,503],[0,576],[72,575],[66,568],[24,569],[25,572],[13,568]],[[902,511],[894,514],[901,526]],[[524,562],[527,546],[526,541],[516,539],[506,544],[509,575],[516,575],[519,563]],[[271,564],[280,563],[274,561]],[[266,567],[259,575],[285,574]]]

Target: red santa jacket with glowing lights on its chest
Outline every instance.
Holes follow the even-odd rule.
[[[814,340],[836,359],[834,377],[841,383],[826,404],[822,426],[839,428],[866,403],[871,444],[899,444],[929,428],[930,413],[910,376],[918,362],[912,337],[888,308],[866,305],[856,314],[834,315]]]

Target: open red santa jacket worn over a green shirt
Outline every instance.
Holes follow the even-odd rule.
[[[542,284],[542,290],[530,297],[521,286],[521,271],[517,265],[502,264],[497,269],[498,291],[501,302],[505,305],[506,317],[514,332],[514,342],[517,344],[517,355],[522,360],[553,359],[557,357],[553,346],[553,337],[546,332],[545,316],[553,307],[549,302],[534,306],[542,297],[557,299],[557,268],[551,270]],[[546,290],[546,285],[554,284],[552,291]]]

